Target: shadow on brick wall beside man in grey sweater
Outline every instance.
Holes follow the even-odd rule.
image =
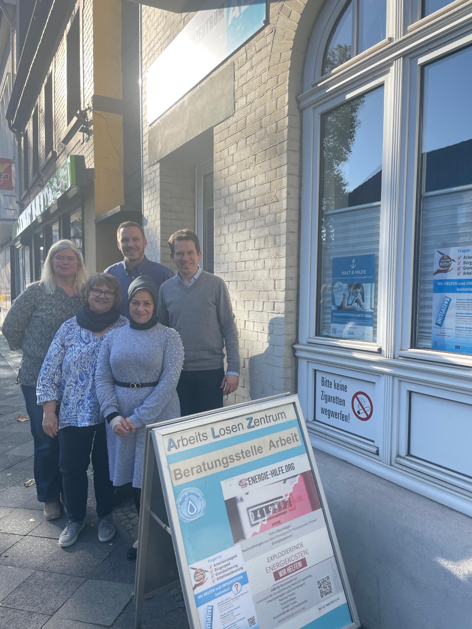
[[[249,358],[250,399],[284,392],[284,329],[284,317],[274,316],[268,324],[269,343],[266,350]]]

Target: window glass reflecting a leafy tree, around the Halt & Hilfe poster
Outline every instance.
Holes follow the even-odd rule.
[[[322,116],[322,287],[318,334],[331,336],[334,257],[376,254],[378,277],[383,151],[383,87]],[[374,329],[376,340],[376,302]]]

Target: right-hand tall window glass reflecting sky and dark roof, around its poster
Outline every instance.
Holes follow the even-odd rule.
[[[472,241],[471,64],[469,47],[424,68],[418,347],[431,347],[435,250]]]

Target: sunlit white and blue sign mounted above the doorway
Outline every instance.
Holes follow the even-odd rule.
[[[198,11],[147,70],[147,123],[177,103],[264,25],[266,0],[222,0]]]

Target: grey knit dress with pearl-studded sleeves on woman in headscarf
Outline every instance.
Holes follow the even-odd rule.
[[[137,430],[121,438],[106,423],[110,479],[113,485],[141,487],[145,426],[180,416],[176,387],[184,362],[179,334],[157,323],[149,330],[125,325],[108,333],[98,356],[95,387],[101,413],[129,417]],[[156,387],[128,389],[120,382],[158,382]]]

